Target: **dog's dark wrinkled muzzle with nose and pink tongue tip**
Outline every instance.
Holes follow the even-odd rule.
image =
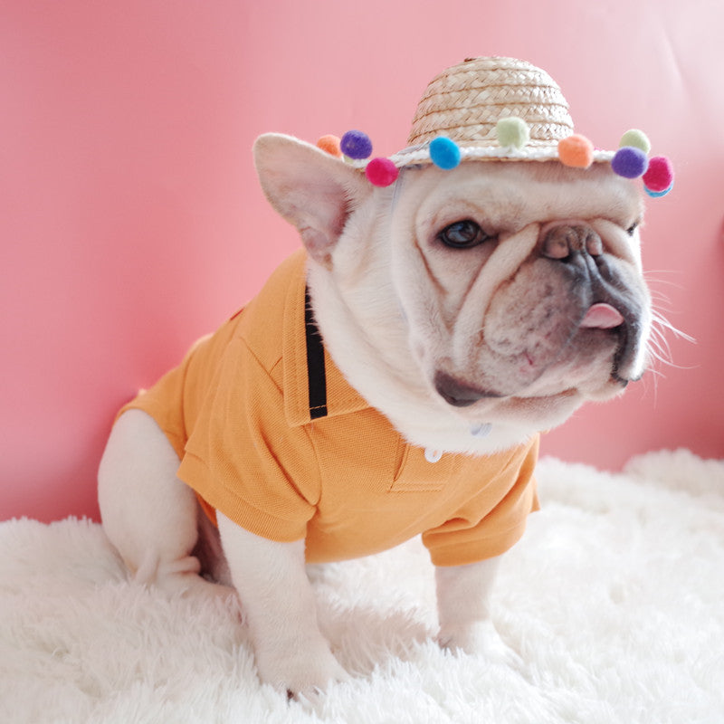
[[[434,372],[435,391],[448,405],[464,408],[483,399],[525,395],[525,390],[548,369],[555,369],[557,364],[565,367],[581,350],[584,350],[583,360],[591,359],[593,353],[589,354],[586,349],[590,352],[596,347],[602,349],[602,354],[607,350],[605,354],[609,355],[614,349],[609,381],[625,386],[641,375],[643,370],[638,359],[645,298],[640,285],[633,283],[628,265],[606,252],[604,240],[594,228],[577,220],[544,226],[528,268],[537,275],[533,279],[539,282],[538,293],[545,293],[542,280],[550,280],[561,291],[554,303],[545,296],[539,299],[528,296],[525,301],[531,315],[538,309],[548,310],[548,315],[545,312],[538,315],[545,323],[544,328],[531,327],[519,310],[515,329],[520,338],[529,336],[529,347],[520,344],[506,357],[509,329],[504,324],[505,305],[515,300],[517,294],[527,296],[521,281],[517,291],[504,297],[505,301],[500,302],[495,312],[497,316],[493,319],[497,326],[489,330],[491,337],[482,353],[490,355],[491,364],[485,367],[484,356],[480,362],[487,374],[471,376],[463,372],[458,376],[450,367]],[[529,280],[530,276],[524,278]],[[548,323],[548,319],[555,321]],[[615,347],[612,348],[610,341],[605,342],[602,335],[614,340]],[[499,357],[496,359],[495,355]],[[502,361],[496,370],[498,360]],[[501,379],[506,380],[505,373],[500,373],[505,364],[510,365],[511,374],[501,384]],[[513,375],[517,375],[518,382],[511,382]]]

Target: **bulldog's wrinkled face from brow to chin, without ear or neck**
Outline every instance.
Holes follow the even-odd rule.
[[[405,175],[393,221],[410,348],[459,414],[548,424],[643,374],[639,195],[606,166]]]

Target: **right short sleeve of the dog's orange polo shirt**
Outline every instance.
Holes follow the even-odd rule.
[[[538,510],[533,475],[538,438],[520,449],[497,480],[491,481],[443,525],[423,534],[435,566],[463,566],[500,556],[523,536],[529,513]],[[498,488],[491,508],[490,489]]]

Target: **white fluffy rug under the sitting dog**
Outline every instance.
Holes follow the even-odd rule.
[[[546,459],[543,510],[493,614],[514,665],[433,643],[419,540],[311,572],[357,673],[313,702],[262,687],[230,601],[130,584],[86,520],[0,524],[0,721],[694,724],[724,722],[724,462]]]

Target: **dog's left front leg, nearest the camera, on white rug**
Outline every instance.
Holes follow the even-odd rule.
[[[331,681],[347,680],[319,631],[304,541],[261,538],[217,515],[262,681],[281,691],[310,694]]]

